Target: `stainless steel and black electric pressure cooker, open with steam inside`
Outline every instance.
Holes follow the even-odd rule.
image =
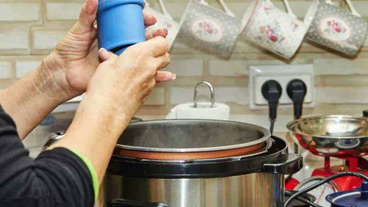
[[[301,155],[257,125],[135,122],[116,145],[97,206],[283,207],[284,175],[302,167]]]

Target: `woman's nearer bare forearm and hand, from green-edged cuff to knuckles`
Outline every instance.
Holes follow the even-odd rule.
[[[151,93],[157,71],[170,61],[168,49],[165,38],[155,37],[132,45],[120,56],[101,50],[107,59],[89,81],[65,136],[52,147],[81,153],[93,164],[101,183],[120,135]]]

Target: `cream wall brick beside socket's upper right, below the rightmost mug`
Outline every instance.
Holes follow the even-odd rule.
[[[314,59],[315,75],[354,75],[368,74],[368,59],[316,58]]]

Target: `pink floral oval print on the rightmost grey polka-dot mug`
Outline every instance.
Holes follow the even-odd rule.
[[[352,31],[349,25],[336,17],[325,17],[319,22],[319,31],[327,39],[334,42],[347,41]]]

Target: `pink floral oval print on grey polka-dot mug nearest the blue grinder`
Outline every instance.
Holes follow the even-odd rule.
[[[223,37],[221,26],[209,19],[194,21],[192,32],[197,38],[208,42],[218,42]]]

